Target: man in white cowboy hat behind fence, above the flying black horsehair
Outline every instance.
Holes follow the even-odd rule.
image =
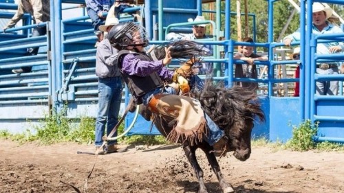
[[[189,22],[193,21],[205,21],[203,16],[196,16],[195,20],[189,19]],[[193,25],[193,33],[192,34],[176,34],[174,32],[171,32],[166,35],[166,41],[180,41],[180,40],[196,40],[196,39],[204,39],[204,38],[210,38],[210,36],[206,35],[206,24],[198,24]],[[213,54],[213,46],[211,45],[204,45],[206,48],[211,50],[211,55]],[[212,63],[196,63],[193,65],[193,67],[196,67],[200,69],[198,74],[210,74],[213,71],[213,64]]]

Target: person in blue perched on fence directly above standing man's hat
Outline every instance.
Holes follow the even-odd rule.
[[[85,0],[85,3],[87,14],[94,27],[94,34],[97,36],[96,45],[94,45],[94,47],[97,47],[98,43],[104,38],[99,26],[104,24],[106,14],[109,12],[110,6],[114,4],[114,0]]]

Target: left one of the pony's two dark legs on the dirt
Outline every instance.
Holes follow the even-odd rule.
[[[200,165],[197,162],[196,158],[196,149],[195,147],[191,147],[188,144],[183,144],[183,149],[185,152],[186,157],[189,159],[191,166],[193,167],[193,171],[196,174],[198,179],[198,183],[200,184],[200,188],[198,189],[198,193],[208,193],[206,190],[206,185],[204,185],[203,180],[203,170],[201,169]]]

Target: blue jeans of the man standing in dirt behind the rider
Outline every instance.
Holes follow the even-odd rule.
[[[122,78],[99,78],[98,81],[98,115],[96,119],[96,139],[95,145],[103,144],[102,137],[105,135],[105,126],[107,135],[118,123],[118,113],[120,103],[122,102]],[[116,137],[117,131],[110,137]],[[116,144],[117,141],[109,141],[108,144]]]

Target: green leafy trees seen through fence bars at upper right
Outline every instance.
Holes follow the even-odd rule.
[[[299,1],[294,0],[295,3],[299,4]],[[333,5],[329,4],[332,9],[334,9],[339,15],[344,15],[344,5]],[[209,10],[210,3],[204,4],[203,9]],[[213,5],[215,8],[215,4]],[[232,13],[236,12],[236,1],[230,2],[230,11]],[[225,2],[221,2],[221,9],[224,12],[225,9]],[[288,18],[292,14],[295,8],[287,1],[275,1],[274,3],[274,23],[273,23],[273,32],[274,37],[273,40],[277,41],[277,38],[281,34],[283,27],[287,24]],[[241,13],[244,13],[244,1],[241,1]],[[264,43],[268,42],[268,1],[266,0],[256,0],[256,1],[248,1],[248,13],[255,14],[256,17],[256,32],[257,32],[257,42]],[[204,13],[206,19],[210,19],[211,14]],[[224,14],[221,16],[221,29],[224,31]],[[241,15],[241,37],[244,37],[244,15]],[[253,20],[252,16],[248,17],[248,28],[249,28],[249,36],[252,36],[252,27],[253,27]],[[286,32],[283,34],[282,38],[288,34],[291,34],[295,30],[300,27],[300,14],[299,12],[295,12],[294,16],[286,28]],[[233,40],[237,40],[237,19],[236,14],[231,14],[230,16],[230,38]]]

